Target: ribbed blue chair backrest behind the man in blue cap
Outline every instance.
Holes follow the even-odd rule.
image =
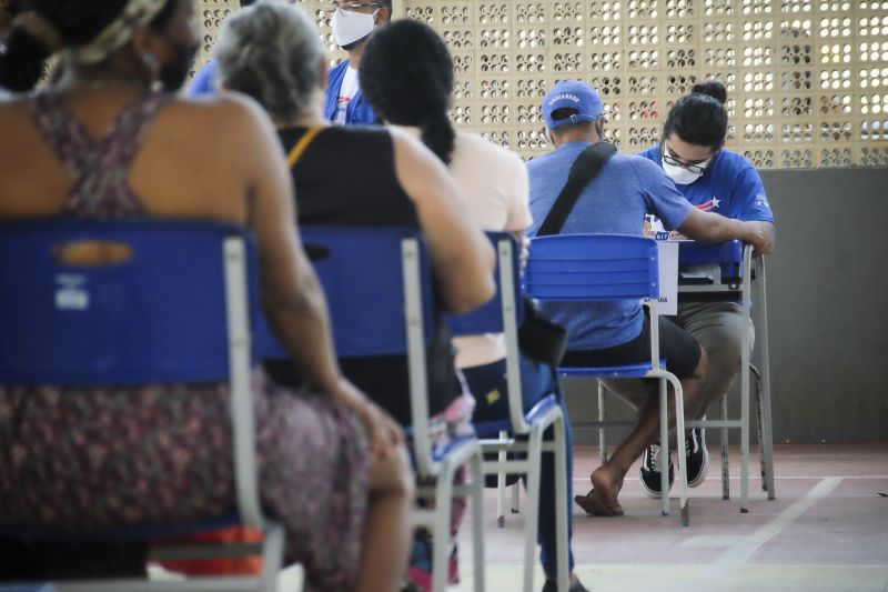
[[[553,302],[658,298],[656,241],[624,234],[535,238],[524,293]]]

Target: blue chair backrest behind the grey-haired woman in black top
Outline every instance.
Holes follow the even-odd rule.
[[[407,353],[404,320],[402,243],[418,245],[424,335],[432,335],[434,298],[425,240],[417,229],[401,227],[302,225],[305,252],[324,289],[339,358]],[[264,349],[280,358],[280,345]]]

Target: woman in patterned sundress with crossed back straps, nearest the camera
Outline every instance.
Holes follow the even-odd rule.
[[[57,51],[63,74],[0,103],[0,219],[249,224],[269,320],[303,377],[300,391],[261,370],[252,378],[262,504],[283,523],[285,558],[303,564],[306,590],[396,590],[412,499],[402,437],[336,364],[266,116],[233,94],[173,94],[188,69],[162,72],[188,63],[199,43],[191,0],[30,6],[7,37],[0,86],[31,90]],[[161,82],[164,91],[152,90]],[[4,385],[0,449],[17,452],[0,455],[0,523],[82,532],[218,518],[234,504],[230,424],[226,382]],[[98,449],[124,462],[90,461]],[[4,540],[0,581],[144,575],[145,554]]]

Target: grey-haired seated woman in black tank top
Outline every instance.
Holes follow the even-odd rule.
[[[222,86],[253,96],[278,126],[282,148],[290,154],[300,224],[420,228],[428,242],[441,308],[466,311],[493,295],[493,249],[464,215],[464,200],[444,164],[406,131],[336,127],[324,119],[327,54],[301,8],[261,0],[238,12],[220,34],[216,61]],[[474,400],[454,365],[441,318],[426,360],[436,439],[443,443],[471,433]],[[405,357],[340,363],[345,375],[396,421],[411,423]],[[290,363],[269,362],[266,368],[289,384],[301,380]],[[455,574],[454,555],[451,569]],[[423,579],[415,573],[415,581],[422,584]]]

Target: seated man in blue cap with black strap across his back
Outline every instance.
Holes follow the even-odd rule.
[[[573,80],[549,90],[543,99],[543,119],[555,149],[527,163],[532,237],[567,182],[571,165],[583,150],[602,140],[605,126],[598,93],[585,82]],[[668,229],[698,240],[738,238],[756,245],[763,245],[765,240],[745,222],[692,207],[663,169],[640,157],[623,154],[610,158],[582,191],[561,233],[640,235],[645,214],[650,211]],[[569,332],[564,365],[616,365],[650,359],[649,319],[637,302],[552,303],[544,313]],[[694,338],[663,318],[659,334],[660,351],[669,359],[669,369],[682,381],[685,401],[690,404],[705,379],[706,354]],[[639,380],[612,380],[607,385],[639,409],[638,421],[610,459],[593,471],[593,490],[575,500],[589,513],[620,515],[617,493],[623,479],[659,431],[657,392],[654,385]]]

